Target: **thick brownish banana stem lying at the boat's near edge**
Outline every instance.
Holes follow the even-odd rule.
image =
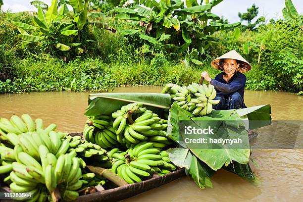
[[[111,172],[108,169],[101,168],[101,167],[95,167],[92,165],[88,165],[87,167],[88,167],[88,169],[90,169],[91,172],[101,175],[102,177],[113,182],[114,184],[118,185],[119,187],[128,185],[128,183],[125,180],[123,180],[120,176],[114,174],[113,172]]]

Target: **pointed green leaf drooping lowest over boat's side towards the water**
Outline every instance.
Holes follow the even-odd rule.
[[[200,189],[204,189],[205,187],[212,188],[212,183],[210,182],[208,175],[209,174],[206,168],[204,168],[203,163],[193,155],[191,167],[189,169],[189,176],[193,178]]]

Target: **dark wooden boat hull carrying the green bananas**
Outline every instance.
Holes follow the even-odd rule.
[[[82,136],[82,132],[70,133],[71,136]],[[253,141],[258,136],[258,132],[249,131],[249,140]],[[186,176],[184,168],[173,171],[169,174],[159,176],[154,174],[151,179],[145,180],[143,182],[138,182],[134,184],[129,184],[108,190],[95,189],[92,194],[81,195],[75,202],[117,202],[123,199],[127,199],[143,192],[152,190],[156,187],[160,187],[164,184],[172,182]],[[97,187],[96,187],[97,188]],[[8,187],[0,187],[0,191],[9,191]]]

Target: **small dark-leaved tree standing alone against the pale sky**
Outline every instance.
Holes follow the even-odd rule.
[[[240,17],[241,21],[247,21],[248,25],[242,25],[244,29],[254,30],[255,26],[265,22],[265,17],[261,16],[259,17],[254,23],[252,23],[252,20],[258,15],[259,13],[259,7],[256,7],[253,3],[252,7],[247,9],[246,13],[238,13],[238,16]]]

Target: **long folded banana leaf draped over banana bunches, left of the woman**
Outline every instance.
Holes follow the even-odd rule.
[[[90,94],[87,116],[111,114],[130,102],[141,102],[159,109],[169,109],[171,98],[168,94],[158,93],[101,93]]]

